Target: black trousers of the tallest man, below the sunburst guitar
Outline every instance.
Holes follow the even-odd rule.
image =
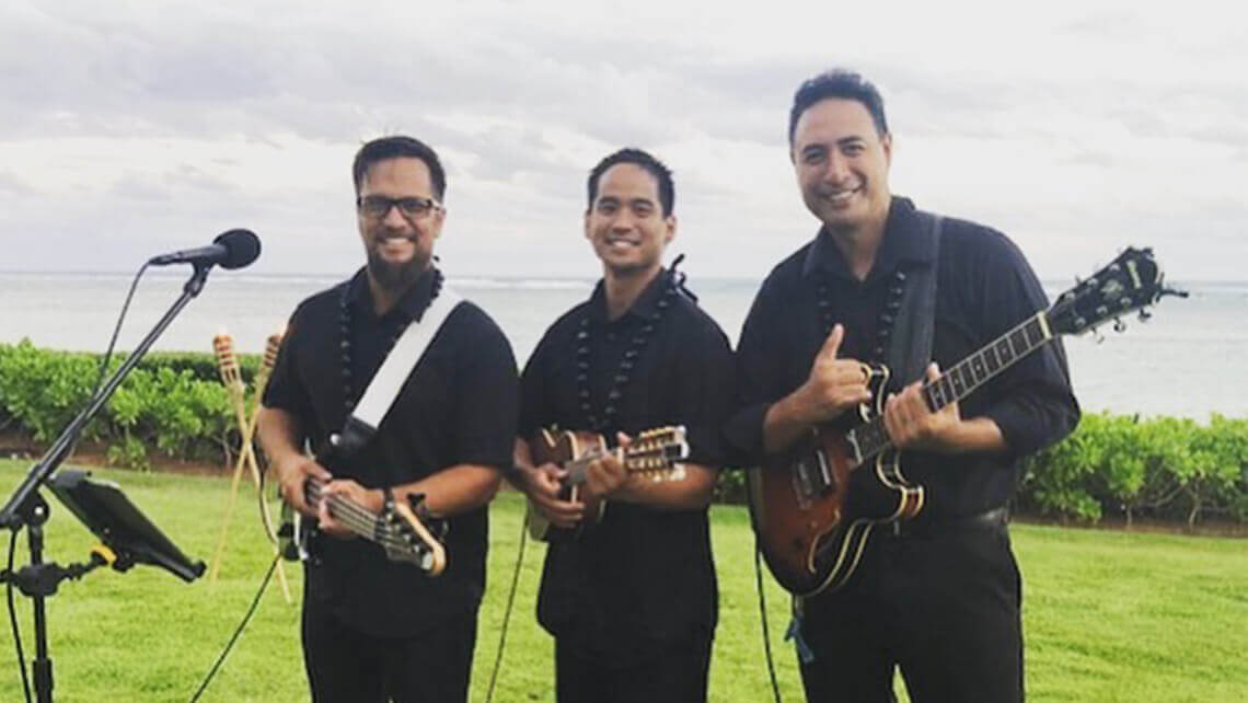
[[[1005,526],[872,534],[839,592],[802,603],[811,703],[892,703],[900,667],[915,703],[1016,703],[1022,579]]]

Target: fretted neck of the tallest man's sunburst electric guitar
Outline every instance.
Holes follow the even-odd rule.
[[[1047,312],[1037,312],[980,351],[941,372],[940,378],[925,383],[922,393],[927,407],[936,412],[956,403],[1053,338]],[[892,446],[882,416],[856,427],[846,438],[855,448],[859,463]]]

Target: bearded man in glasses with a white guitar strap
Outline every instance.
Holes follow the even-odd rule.
[[[286,501],[318,522],[306,566],[302,639],[317,702],[466,701],[485,584],[487,511],[510,466],[517,372],[510,346],[463,302],[438,328],[376,435],[339,474],[305,453],[321,451],[394,342],[442,288],[433,245],[442,232],[446,175],[423,142],[391,136],[356,155],[357,224],[367,266],[296,308],[265,393],[260,441]],[[446,572],[431,578],[351,538],[341,516],[305,502],[310,477],[323,494],[378,513],[387,499],[423,494],[446,518]]]

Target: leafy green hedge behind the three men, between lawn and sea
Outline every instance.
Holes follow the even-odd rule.
[[[124,356],[124,355],[121,355]],[[86,403],[100,356],[0,345],[0,430],[46,443]],[[120,363],[114,358],[112,366]],[[245,380],[260,356],[240,358]],[[155,452],[227,465],[238,446],[211,353],[147,356],[87,427],[115,463],[147,467]],[[716,499],[745,501],[745,473],[725,471]],[[1194,524],[1248,521],[1248,420],[1085,415],[1065,441],[1023,465],[1017,507],[1097,522],[1139,516]]]

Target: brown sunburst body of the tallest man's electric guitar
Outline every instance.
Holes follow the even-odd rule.
[[[872,400],[859,407],[854,425],[884,412],[889,370],[867,372]],[[797,596],[844,586],[871,529],[910,519],[924,506],[924,488],[902,476],[896,451],[860,465],[841,426],[814,430],[776,461],[750,469],[748,478],[763,557],[776,581]]]

